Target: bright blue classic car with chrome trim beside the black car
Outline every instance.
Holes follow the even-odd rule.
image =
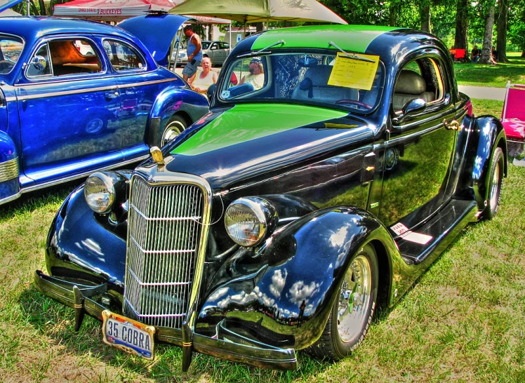
[[[1,18],[0,204],[145,159],[208,112],[204,96],[159,66],[185,20]]]

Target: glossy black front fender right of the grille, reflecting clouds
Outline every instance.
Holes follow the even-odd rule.
[[[323,332],[354,255],[369,241],[387,237],[378,220],[359,208],[305,215],[257,253],[239,250],[225,263],[201,306],[197,331],[214,335],[233,323],[225,330],[275,347],[308,347]]]

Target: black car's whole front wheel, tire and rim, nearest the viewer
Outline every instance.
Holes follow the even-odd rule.
[[[365,264],[368,264],[368,267],[364,266]],[[366,280],[363,267],[368,272],[368,279]],[[361,276],[356,276],[355,271],[357,270]],[[357,308],[353,307],[353,302],[356,302],[355,295],[359,289],[359,283],[354,283],[352,290],[348,290],[350,282],[359,282],[359,279],[361,279],[361,291],[365,293],[365,289],[368,289],[366,294],[357,295],[357,300],[362,305],[361,309],[359,309],[359,304]],[[378,297],[378,257],[373,246],[364,246],[350,262],[345,273],[345,279],[338,291],[338,297],[335,299],[321,337],[312,346],[305,349],[308,354],[319,359],[328,358],[332,361],[339,361],[354,351],[364,340],[376,311]],[[351,293],[346,298],[349,292]],[[364,299],[363,296],[365,296]],[[354,300],[350,306],[352,297]],[[347,315],[346,311],[352,314]],[[345,328],[349,331],[345,332]]]

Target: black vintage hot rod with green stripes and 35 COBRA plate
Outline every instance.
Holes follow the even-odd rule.
[[[430,34],[351,25],[241,41],[211,112],[133,171],[94,173],[48,236],[41,293],[155,342],[292,369],[343,358],[469,222],[498,210],[503,127]]]

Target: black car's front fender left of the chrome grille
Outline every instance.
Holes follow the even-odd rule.
[[[124,290],[126,241],[95,220],[84,184],[69,194],[51,224],[46,266],[52,276],[109,282],[120,293]]]

